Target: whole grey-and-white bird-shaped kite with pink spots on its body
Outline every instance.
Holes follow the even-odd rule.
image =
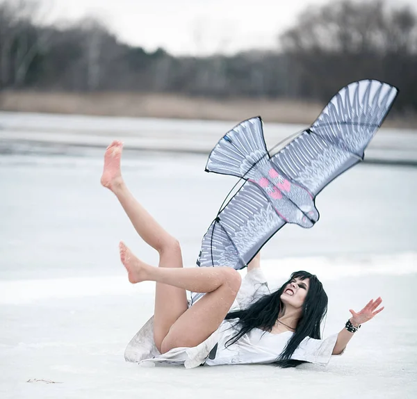
[[[238,124],[215,145],[207,172],[245,179],[202,240],[197,266],[247,266],[286,223],[312,227],[314,199],[338,175],[363,159],[398,93],[375,80],[351,83],[317,120],[270,156],[261,117]]]

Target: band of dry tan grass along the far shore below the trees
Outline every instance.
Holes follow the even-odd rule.
[[[2,92],[2,111],[168,117],[200,120],[245,120],[261,115],[265,122],[311,124],[325,104],[286,99],[207,99],[129,92]],[[387,121],[385,126],[416,127],[416,115]]]

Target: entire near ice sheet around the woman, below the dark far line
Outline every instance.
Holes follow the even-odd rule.
[[[111,138],[108,136],[108,141]],[[361,164],[316,200],[313,229],[287,225],[263,249],[272,286],[315,272],[329,295],[325,336],[348,309],[381,295],[386,310],[327,368],[140,368],[123,352],[152,315],[153,284],[131,286],[122,239],[148,263],[115,197],[99,184],[102,149],[0,142],[1,398],[201,398],[292,395],[415,398],[417,168]],[[206,156],[126,151],[124,177],[179,238],[193,266],[234,177],[204,172]],[[27,382],[28,380],[51,380]]]

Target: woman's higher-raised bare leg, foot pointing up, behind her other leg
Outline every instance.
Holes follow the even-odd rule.
[[[162,268],[182,268],[181,248],[178,241],[170,236],[133,197],[123,181],[120,170],[123,144],[113,141],[104,155],[104,172],[101,184],[111,190],[119,199],[126,215],[140,237],[159,253]],[[186,311],[186,290],[160,282],[156,283],[154,340],[161,351],[163,339],[175,321]]]

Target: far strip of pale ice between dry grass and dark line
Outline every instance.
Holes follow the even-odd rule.
[[[256,115],[247,115],[253,116]],[[0,111],[0,151],[2,144],[10,148],[22,143],[29,147],[42,145],[52,152],[68,145],[106,147],[108,140],[117,137],[131,149],[208,155],[222,135],[238,122]],[[306,127],[265,123],[263,133],[268,149]],[[366,150],[365,161],[417,165],[417,129],[386,128],[383,124]]]

